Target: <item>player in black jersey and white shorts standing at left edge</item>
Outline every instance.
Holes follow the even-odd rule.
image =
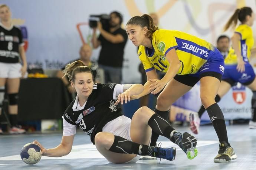
[[[20,78],[27,71],[27,60],[24,50],[22,32],[13,26],[10,8],[0,5],[0,115],[4,100],[4,88],[9,98],[9,116],[11,128],[9,133],[26,132],[17,125]],[[20,63],[22,59],[23,65]],[[1,122],[1,121],[0,121]],[[0,127],[0,133],[3,133]]]

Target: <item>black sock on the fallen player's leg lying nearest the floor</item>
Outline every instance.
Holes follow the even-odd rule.
[[[153,149],[154,147],[152,146],[138,144],[121,136],[115,136],[114,143],[109,150],[115,153],[138,154],[143,156],[149,155]]]

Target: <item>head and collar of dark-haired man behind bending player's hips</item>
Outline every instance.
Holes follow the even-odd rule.
[[[223,55],[225,59],[227,54],[229,54],[229,47],[230,47],[230,39],[227,35],[220,35],[217,39],[217,48]]]

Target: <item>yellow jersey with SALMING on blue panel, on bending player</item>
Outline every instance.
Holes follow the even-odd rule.
[[[156,68],[167,72],[170,63],[165,58],[168,51],[175,49],[181,62],[177,74],[195,74],[213,54],[211,43],[196,36],[177,30],[157,30],[152,35],[152,53],[140,45],[138,56],[146,72]]]

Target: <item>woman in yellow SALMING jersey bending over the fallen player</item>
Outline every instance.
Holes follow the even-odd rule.
[[[133,97],[140,98],[150,92],[157,94],[163,89],[154,111],[166,118],[170,106],[200,80],[201,101],[220,141],[214,162],[236,159],[228,142],[223,113],[214,101],[224,72],[224,59],[219,50],[196,36],[158,29],[147,14],[132,17],[126,24],[126,32],[129,40],[140,46],[138,56],[148,78],[144,91]],[[157,79],[155,69],[166,72],[165,76]],[[151,145],[155,145],[157,138],[152,132]]]

